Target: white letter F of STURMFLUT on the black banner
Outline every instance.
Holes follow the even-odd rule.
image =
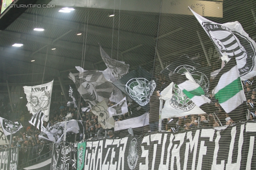
[[[202,129],[201,131],[201,137],[209,137],[209,141],[213,141],[214,137],[214,129]],[[201,141],[200,143],[200,150],[198,155],[198,163],[196,166],[196,170],[202,169],[202,163],[203,163],[203,155],[206,155],[207,147],[204,146],[205,141]]]

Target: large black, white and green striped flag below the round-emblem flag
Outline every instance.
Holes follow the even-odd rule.
[[[235,57],[220,70],[213,83],[218,84],[212,90],[212,94],[226,113],[230,113],[246,101]]]

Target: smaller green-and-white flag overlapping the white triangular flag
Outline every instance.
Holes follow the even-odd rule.
[[[189,72],[186,72],[188,76],[192,77]],[[206,98],[204,96],[204,90],[201,88],[199,84],[197,84],[194,79],[192,78],[191,80],[188,79],[181,84],[178,84],[178,87],[188,98],[192,100],[196,104],[196,106],[200,107],[205,103],[210,103],[211,100]]]

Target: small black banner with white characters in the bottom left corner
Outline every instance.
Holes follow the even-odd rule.
[[[0,150],[0,169],[17,170],[18,148]]]

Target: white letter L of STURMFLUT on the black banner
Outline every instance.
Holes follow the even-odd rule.
[[[217,157],[219,151],[219,140],[220,140],[220,131],[217,131],[217,137],[215,139],[215,148],[212,160],[212,170],[224,170],[225,160],[221,160],[220,164],[217,164]]]

